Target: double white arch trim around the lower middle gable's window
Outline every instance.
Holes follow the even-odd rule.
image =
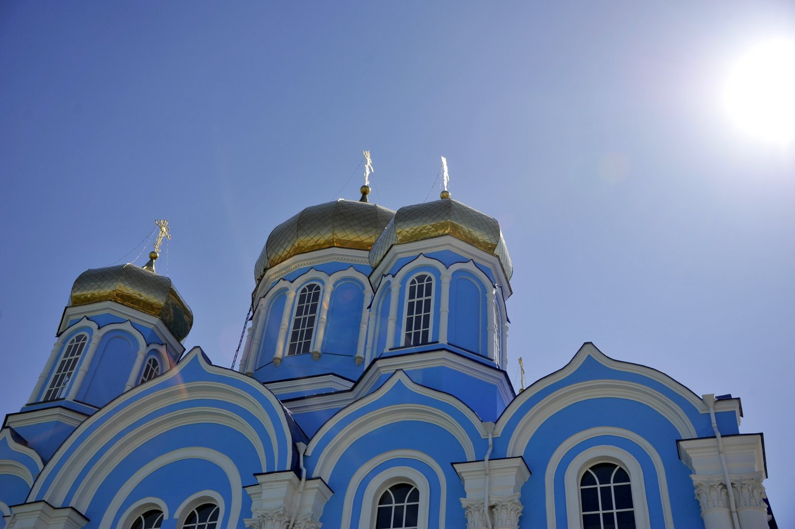
[[[425,456],[425,459],[418,458],[417,456],[419,455]],[[408,458],[423,461],[431,466],[433,471],[436,473],[436,477],[439,478],[440,483],[440,500],[439,506],[436,510],[439,512],[439,527],[444,527],[444,500],[447,497],[447,481],[444,480],[444,473],[442,473],[442,469],[438,464],[436,464],[436,461],[433,461],[431,458],[429,458],[427,454],[422,454],[416,450],[393,450],[392,452],[381,454],[377,458],[367,461],[363,469],[359,469],[359,471],[355,473],[354,478],[351,480],[351,484],[348,485],[347,491],[345,492],[343,519],[342,523],[340,523],[340,529],[351,529],[354,496],[356,495],[356,490],[359,488],[359,485],[362,483],[362,480],[366,474],[376,466],[380,465],[382,462],[396,458]],[[374,461],[378,462],[372,464]],[[390,469],[382,471],[381,473],[378,473],[378,475],[374,476],[373,479],[370,480],[370,483],[368,483],[364,489],[362,496],[362,509],[359,512],[359,523],[355,527],[358,527],[358,529],[370,529],[370,527],[373,527],[376,513],[376,509],[374,507],[375,502],[378,501],[378,492],[383,492],[386,487],[390,487],[405,481],[413,482],[413,485],[417,487],[417,491],[420,493],[420,508],[417,515],[417,527],[418,529],[428,529],[431,487],[429,485],[428,478],[425,477],[425,475],[423,475],[421,472],[418,472],[417,469],[413,469],[409,466],[394,466]]]

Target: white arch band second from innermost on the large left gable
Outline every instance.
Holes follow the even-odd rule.
[[[120,438],[118,442],[115,442],[114,446],[106,450],[102,458],[99,458],[99,461],[97,461],[93,468],[91,468],[91,471],[87,473],[86,477],[80,483],[80,486],[75,492],[72,504],[75,508],[80,510],[80,512],[85,512],[88,504],[91,503],[91,498],[94,497],[99,487],[103,485],[108,474],[137,449],[138,446],[141,446],[143,443],[166,431],[196,423],[222,424],[223,426],[231,427],[241,432],[249,440],[251,445],[254,446],[254,449],[257,450],[261,465],[258,472],[264,472],[266,470],[265,447],[258,438],[254,428],[250,427],[237,415],[232,415],[226,410],[219,410],[211,407],[193,407],[175,411],[169,415],[162,415],[157,419],[149,421],[149,423],[143,424],[134,431],[130,431],[129,434],[126,434],[124,437]],[[63,498],[59,499],[63,500]]]

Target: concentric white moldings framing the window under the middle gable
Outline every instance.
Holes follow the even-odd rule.
[[[343,503],[342,520],[340,520],[340,529],[351,529],[351,519],[353,518],[353,502],[355,500],[356,491],[359,489],[360,485],[362,485],[366,475],[370,473],[373,469],[378,467],[378,465],[381,465],[386,461],[390,461],[392,459],[401,459],[401,458],[415,459],[417,461],[421,461],[422,463],[425,463],[425,465],[431,467],[431,469],[433,469],[433,472],[436,473],[436,478],[439,480],[439,485],[440,485],[440,491],[439,491],[440,500],[439,500],[439,506],[438,508],[436,508],[436,510],[439,512],[439,527],[445,527],[444,519],[446,515],[446,505],[447,505],[446,504],[447,480],[444,477],[444,471],[440,467],[439,463],[436,462],[435,459],[431,458],[428,454],[425,454],[425,452],[420,452],[419,450],[390,450],[388,452],[384,452],[383,454],[378,454],[374,458],[370,459],[370,461],[366,461],[363,465],[359,466],[359,469],[356,471],[353,477],[351,477],[351,480],[348,481],[348,486],[347,490],[345,491],[345,499]],[[398,467],[392,467],[392,469],[410,469],[410,467],[398,466]],[[394,477],[394,474],[392,473],[385,474],[386,472],[389,472],[392,469],[387,469],[384,472],[379,473],[378,476],[374,477],[370,481],[370,484],[373,484],[374,482],[378,481],[378,484],[380,485],[384,481],[387,481],[390,478]],[[411,469],[411,470],[417,473],[417,469]],[[425,478],[425,476],[422,475],[421,473],[419,474],[422,476],[423,479],[425,479],[425,485],[428,485],[427,478]],[[379,481],[379,478],[382,479]],[[368,508],[367,502],[369,500],[369,505],[370,505],[369,508],[372,509],[372,505],[374,504],[374,502],[378,501],[378,496],[375,495],[368,499],[367,496],[368,488],[365,488],[365,494],[363,496],[363,503],[362,503],[363,512],[359,515],[359,526],[358,526],[358,527],[365,527],[365,529],[370,529],[370,527],[374,526],[374,524],[370,526],[366,525],[363,526],[363,523],[366,523],[370,519],[370,515],[367,515],[365,511]],[[425,504],[427,506],[430,505],[430,498],[428,498],[428,501],[425,502]],[[428,523],[427,512],[425,513],[425,523],[426,524]]]

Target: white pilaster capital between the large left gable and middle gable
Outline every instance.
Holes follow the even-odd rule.
[[[320,478],[304,481],[292,471],[257,474],[257,485],[249,485],[251,518],[243,520],[251,529],[285,529],[293,516],[295,529],[320,529],[320,515],[332,489]]]

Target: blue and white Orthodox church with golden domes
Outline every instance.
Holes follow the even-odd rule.
[[[156,252],[80,274],[0,431],[0,529],[775,527],[739,399],[591,343],[517,393],[498,222],[369,192],[267,237],[238,370],[185,352]]]

